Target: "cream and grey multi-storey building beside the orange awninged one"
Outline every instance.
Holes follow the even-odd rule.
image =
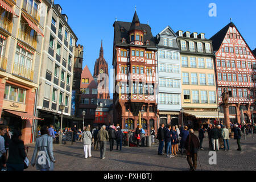
[[[36,113],[44,121],[38,126],[53,124],[60,129],[60,105],[64,104],[63,128],[73,127],[71,98],[77,37],[60,5],[53,4],[46,16]]]

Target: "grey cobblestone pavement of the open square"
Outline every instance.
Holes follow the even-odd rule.
[[[70,143],[70,142],[69,142]],[[186,158],[177,156],[175,158],[166,158],[165,155],[158,154],[158,146],[151,147],[122,147],[122,151],[109,151],[109,143],[106,150],[105,159],[100,159],[100,151],[94,151],[92,148],[92,158],[85,159],[82,142],[76,142],[73,145],[53,144],[55,155],[55,171],[187,171],[189,169]],[[199,160],[197,160],[197,170],[203,171],[226,171],[226,170],[256,170],[256,143],[255,139],[248,135],[246,140],[242,137],[242,151],[237,151],[236,140],[230,139],[230,151],[217,152],[217,164],[209,164],[208,137],[204,138],[203,148],[199,151]],[[35,144],[30,144],[28,159],[31,160]],[[114,149],[116,146],[114,146]],[[201,168],[200,164],[201,163]],[[30,166],[28,171],[36,170],[36,167]]]

